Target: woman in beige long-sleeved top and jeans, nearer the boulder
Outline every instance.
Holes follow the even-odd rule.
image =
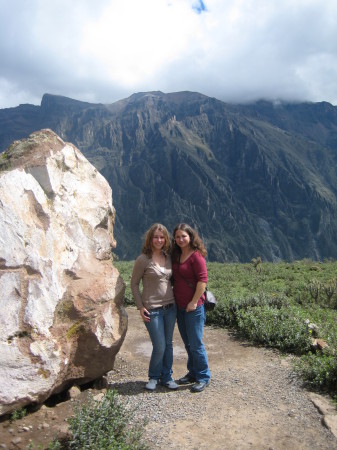
[[[145,234],[142,254],[135,261],[131,277],[132,294],[153,346],[149,381],[145,386],[151,391],[156,389],[158,382],[169,389],[178,388],[172,379],[172,339],[177,311],[169,250],[167,229],[159,223],[153,224]]]

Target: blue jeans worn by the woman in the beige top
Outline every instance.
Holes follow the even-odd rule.
[[[173,330],[177,318],[177,307],[148,310],[150,322],[145,322],[152,342],[149,379],[167,383],[172,380]]]

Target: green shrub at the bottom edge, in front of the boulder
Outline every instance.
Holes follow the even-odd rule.
[[[89,398],[69,419],[74,450],[140,450],[147,447],[141,441],[144,423],[134,421],[133,411],[123,406],[116,391],[109,390],[102,401]]]

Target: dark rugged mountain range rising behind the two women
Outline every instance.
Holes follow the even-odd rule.
[[[116,253],[134,259],[153,222],[196,227],[213,261],[337,257],[337,108],[231,105],[194,92],[113,104],[45,94],[0,110],[0,151],[51,128],[112,187]]]

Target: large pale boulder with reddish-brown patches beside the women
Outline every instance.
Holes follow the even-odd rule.
[[[113,368],[125,337],[106,180],[51,130],[0,155],[0,415]]]

